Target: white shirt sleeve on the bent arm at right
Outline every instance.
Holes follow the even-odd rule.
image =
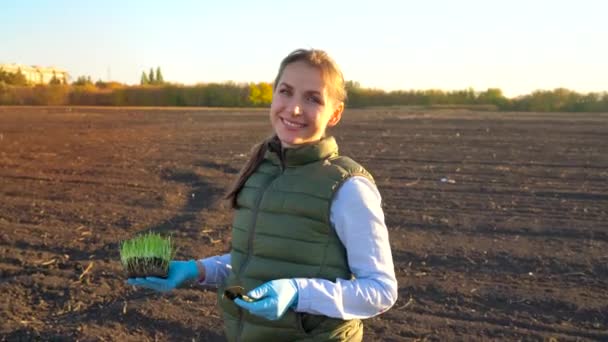
[[[397,279],[376,186],[365,177],[349,178],[334,197],[330,220],[355,278],[297,278],[296,311],[341,319],[385,312],[397,301]]]

